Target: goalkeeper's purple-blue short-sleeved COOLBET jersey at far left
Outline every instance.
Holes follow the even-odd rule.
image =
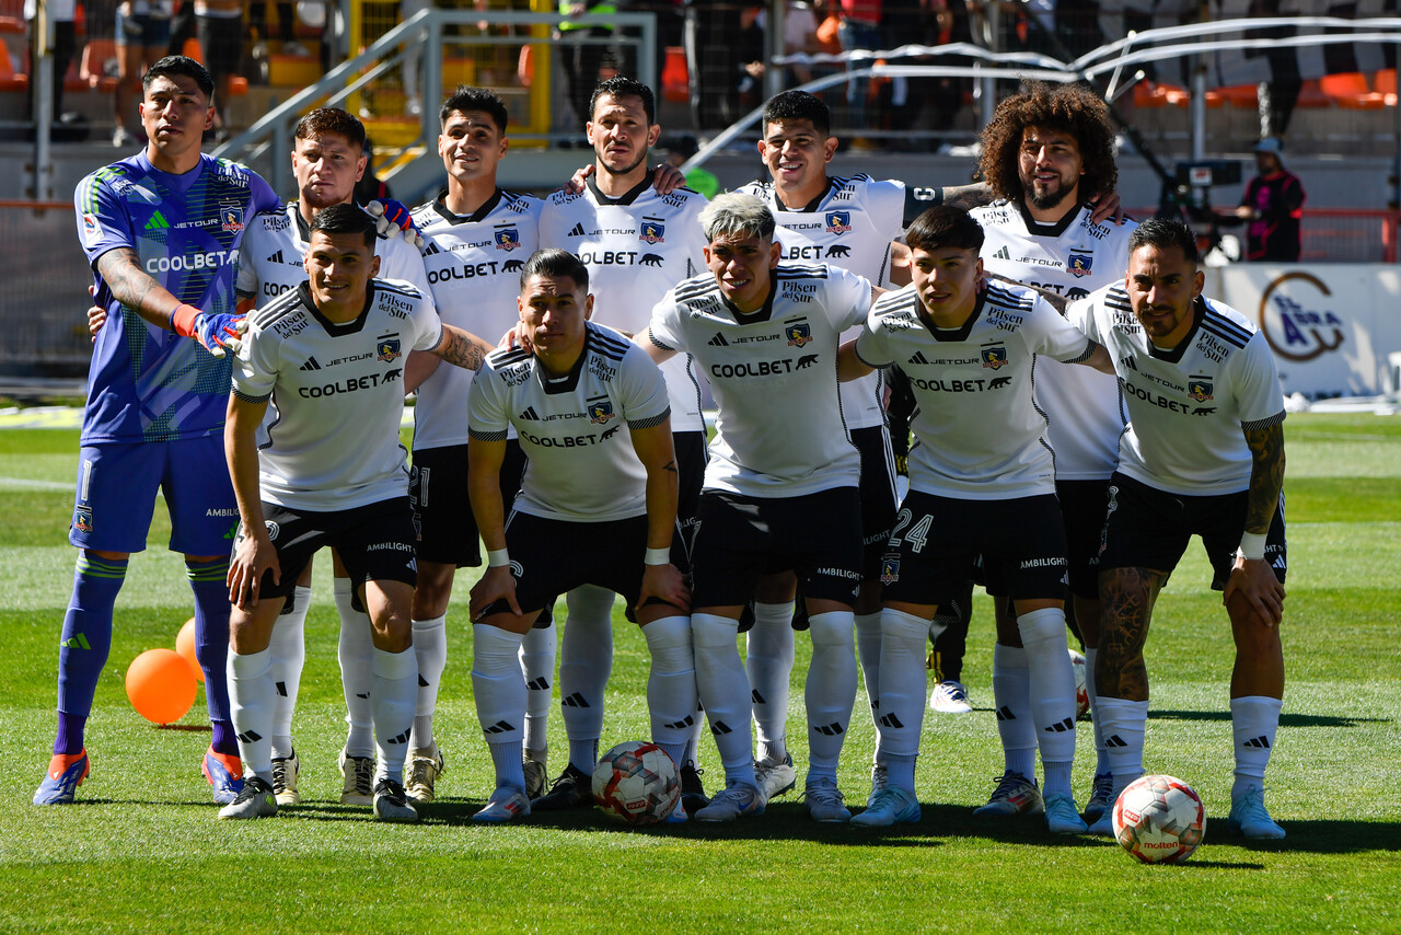
[[[233,313],[244,224],[276,209],[277,196],[244,165],[200,156],[198,167],[171,175],[143,150],[84,178],[73,200],[97,304],[106,308],[88,367],[83,444],[223,432],[230,360],[123,307],[97,261],[111,250],[134,250],[142,269],[181,301]]]

